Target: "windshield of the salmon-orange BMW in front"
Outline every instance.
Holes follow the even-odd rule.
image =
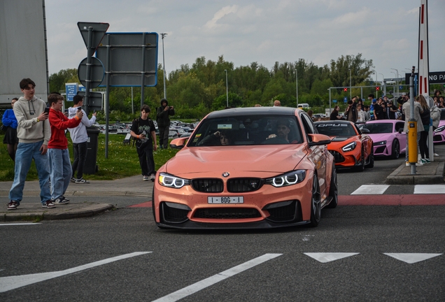
[[[202,120],[188,147],[288,143],[302,143],[295,116],[235,115]]]

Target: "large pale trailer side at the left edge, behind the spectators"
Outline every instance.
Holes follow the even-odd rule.
[[[36,96],[48,99],[48,52],[44,0],[0,1],[0,108],[22,96],[20,80],[36,83]]]

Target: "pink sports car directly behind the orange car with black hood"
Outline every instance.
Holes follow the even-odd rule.
[[[374,145],[374,157],[384,156],[398,159],[407,151],[407,135],[402,120],[373,120],[363,125],[369,130]]]

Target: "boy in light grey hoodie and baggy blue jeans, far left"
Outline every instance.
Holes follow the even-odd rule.
[[[24,180],[34,159],[40,185],[43,208],[55,208],[51,202],[48,141],[51,128],[45,101],[34,96],[36,83],[30,78],[20,81],[23,96],[14,104],[17,118],[17,152],[15,153],[14,181],[9,191],[8,210],[16,210],[23,197]]]

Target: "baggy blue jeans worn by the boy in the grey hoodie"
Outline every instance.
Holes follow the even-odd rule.
[[[17,201],[20,204],[23,198],[24,180],[27,178],[32,159],[36,163],[38,173],[38,184],[40,185],[40,201],[45,203],[51,199],[50,193],[50,170],[48,153],[42,154],[40,151],[43,141],[37,143],[19,143],[15,152],[14,182],[9,191],[9,200]]]

